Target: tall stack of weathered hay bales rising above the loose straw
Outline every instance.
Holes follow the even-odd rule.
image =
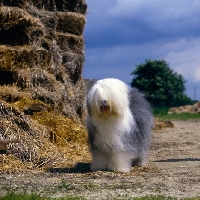
[[[84,0],[0,0],[0,85],[84,118]]]

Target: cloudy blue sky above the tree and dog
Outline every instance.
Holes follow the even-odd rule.
[[[165,60],[200,100],[199,0],[86,0],[84,78],[118,78],[146,60]]]

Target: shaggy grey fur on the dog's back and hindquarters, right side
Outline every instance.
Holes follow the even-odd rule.
[[[133,129],[131,140],[126,138],[125,143],[129,143],[129,148],[133,148],[133,165],[143,165],[146,162],[151,130],[153,127],[153,116],[150,104],[146,101],[144,96],[135,88],[130,90],[130,109],[136,121],[137,128]]]

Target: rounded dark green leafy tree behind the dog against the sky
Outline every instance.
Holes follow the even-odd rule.
[[[191,99],[184,94],[186,80],[170,69],[165,60],[146,60],[144,64],[136,65],[131,75],[134,76],[131,86],[138,88],[151,101],[191,103]]]

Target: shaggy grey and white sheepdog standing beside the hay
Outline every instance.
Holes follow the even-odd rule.
[[[92,171],[145,165],[153,117],[141,93],[118,79],[103,79],[91,88],[87,109]]]

